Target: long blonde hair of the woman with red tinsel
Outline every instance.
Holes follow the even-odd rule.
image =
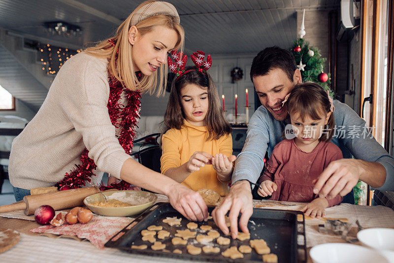
[[[109,60],[108,72],[119,80],[130,90],[140,90],[141,92],[149,92],[150,95],[155,93],[159,97],[164,94],[164,87],[167,85],[167,72],[168,67],[163,65],[160,66],[159,72],[155,71],[150,76],[143,76],[138,81],[134,73],[134,65],[132,61],[132,45],[129,42],[129,30],[131,28],[131,18],[142,6],[154,0],[145,1],[138,5],[137,8],[126,18],[125,21],[119,26],[116,31],[116,35],[108,39],[102,40],[94,47],[89,47],[85,52],[99,58],[106,58]],[[175,45],[176,49],[183,49],[185,32],[182,26],[176,21],[176,19],[169,15],[155,15],[148,17],[135,25],[138,32],[141,35],[149,33],[155,26],[165,26],[169,29],[174,30],[178,34],[178,41]],[[115,43],[113,46],[108,40],[112,40]],[[117,56],[117,50],[119,49],[119,55]]]

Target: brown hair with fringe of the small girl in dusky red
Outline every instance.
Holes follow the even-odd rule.
[[[326,118],[330,112],[330,101],[327,92],[317,83],[304,82],[297,84],[289,99],[286,102],[289,114],[297,113],[302,120],[309,116],[312,120],[320,120],[322,116]],[[333,112],[328,118],[325,129],[328,129],[326,136],[321,136],[319,141],[329,141],[334,134],[334,114]]]

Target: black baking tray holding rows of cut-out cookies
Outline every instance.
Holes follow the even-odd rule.
[[[208,212],[214,208],[208,206]],[[266,262],[306,262],[302,213],[255,208],[248,229],[250,237],[232,239],[223,234],[212,218],[191,223],[170,204],[159,203],[105,246],[133,254],[206,262],[264,262],[264,255]]]

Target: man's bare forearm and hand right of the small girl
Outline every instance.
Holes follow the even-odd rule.
[[[320,197],[334,198],[345,196],[359,182],[364,181],[372,187],[380,187],[386,180],[386,169],[382,164],[356,159],[340,159],[328,164],[315,179],[313,193]]]

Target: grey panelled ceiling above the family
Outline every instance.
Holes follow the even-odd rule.
[[[340,0],[168,0],[186,32],[185,47],[211,54],[256,53],[289,47],[296,11],[332,10]],[[141,0],[0,0],[0,27],[40,41],[79,48],[111,36]],[[62,20],[83,29],[79,37],[53,36],[42,26]]]

